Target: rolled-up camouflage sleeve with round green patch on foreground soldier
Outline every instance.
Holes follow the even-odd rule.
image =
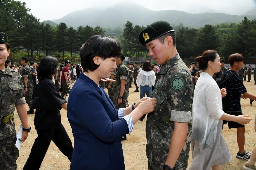
[[[191,123],[193,103],[192,77],[186,73],[175,74],[170,79],[170,88],[170,121]]]

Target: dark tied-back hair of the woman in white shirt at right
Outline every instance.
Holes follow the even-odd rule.
[[[214,61],[218,52],[215,50],[207,50],[203,54],[196,58],[199,69],[205,70],[208,67],[208,61]]]

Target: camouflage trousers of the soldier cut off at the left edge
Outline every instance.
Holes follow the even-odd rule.
[[[17,169],[16,160],[19,157],[19,150],[16,148],[15,143],[15,134],[0,141],[0,169]]]

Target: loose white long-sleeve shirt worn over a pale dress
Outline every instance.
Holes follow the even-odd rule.
[[[223,113],[220,89],[214,79],[203,72],[195,85],[191,135],[191,139],[198,141],[201,153],[207,145],[213,146]]]

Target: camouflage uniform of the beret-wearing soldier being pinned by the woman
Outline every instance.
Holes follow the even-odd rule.
[[[193,85],[190,71],[179,53],[156,73],[151,97],[156,98],[157,106],[148,114],[146,122],[148,162],[153,170],[161,170],[169,152],[174,122],[188,123],[186,141],[175,165],[176,169],[185,170],[191,141]]]

